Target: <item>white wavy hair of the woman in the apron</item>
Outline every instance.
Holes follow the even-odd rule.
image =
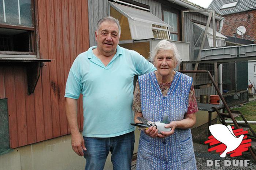
[[[157,43],[157,45],[150,51],[149,59],[152,63],[154,62],[155,57],[160,50],[172,50],[177,65],[181,63],[181,55],[179,54],[177,46],[167,40],[159,41],[159,43]]]

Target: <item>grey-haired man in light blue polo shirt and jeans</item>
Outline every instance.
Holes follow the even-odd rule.
[[[120,25],[112,17],[100,19],[97,46],[75,59],[66,84],[66,113],[73,150],[86,158],[85,169],[104,168],[109,151],[113,169],[131,169],[134,146],[133,77],[155,67],[136,51],[118,45]],[[84,128],[77,124],[77,99],[83,95]]]

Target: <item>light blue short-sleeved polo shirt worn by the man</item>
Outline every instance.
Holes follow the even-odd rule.
[[[105,66],[90,47],[71,66],[65,97],[83,95],[83,136],[108,138],[127,134],[135,128],[133,78],[152,72],[155,67],[133,50],[117,46],[116,54]]]

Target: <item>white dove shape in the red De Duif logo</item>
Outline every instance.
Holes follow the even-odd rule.
[[[225,158],[227,152],[235,150],[244,138],[244,135],[237,138],[230,125],[214,124],[209,126],[209,130],[215,139],[227,146],[226,150],[220,155],[221,158]]]

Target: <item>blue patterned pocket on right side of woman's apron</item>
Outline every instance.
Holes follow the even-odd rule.
[[[188,139],[179,143],[181,146],[181,159],[182,162],[187,162],[194,157],[194,149],[192,139]]]

